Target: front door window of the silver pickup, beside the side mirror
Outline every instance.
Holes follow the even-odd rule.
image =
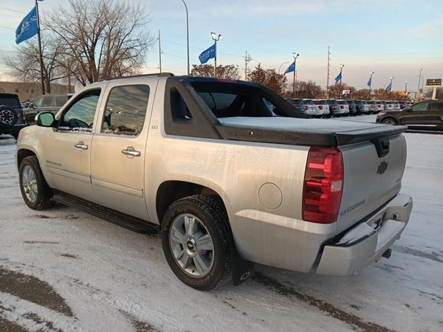
[[[75,100],[64,112],[59,130],[91,132],[100,90],[88,91]]]

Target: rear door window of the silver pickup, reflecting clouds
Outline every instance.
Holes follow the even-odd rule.
[[[137,136],[145,123],[147,85],[116,86],[111,89],[102,122],[102,133]]]

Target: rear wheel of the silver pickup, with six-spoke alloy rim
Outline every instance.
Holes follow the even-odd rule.
[[[186,220],[187,216],[194,218],[193,224],[198,226],[198,232],[190,231],[189,226],[186,227],[186,221],[181,226],[181,220],[183,218]],[[188,219],[188,225],[191,224]],[[190,235],[193,233],[195,237]],[[200,233],[204,235],[197,237]],[[177,241],[173,239],[174,234],[177,234],[175,237]],[[203,246],[199,244],[200,239],[205,237],[207,240],[207,235],[212,240],[212,252],[198,248]],[[166,261],[183,284],[199,291],[208,291],[231,279],[230,245],[233,243],[233,238],[230,233],[228,214],[220,199],[213,196],[194,195],[172,203],[163,216],[161,240]],[[205,246],[210,247],[207,242],[205,243]],[[196,256],[191,257],[188,253]],[[198,260],[197,256],[199,256]],[[181,260],[176,257],[181,257]],[[206,265],[196,264],[202,260]]]

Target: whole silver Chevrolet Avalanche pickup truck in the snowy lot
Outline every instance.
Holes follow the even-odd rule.
[[[412,208],[405,127],[308,119],[257,84],[105,80],[35,120],[17,143],[26,205],[160,230],[174,274],[201,290],[254,263],[356,273],[390,257]]]

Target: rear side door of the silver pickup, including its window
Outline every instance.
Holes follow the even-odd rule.
[[[149,220],[145,202],[145,147],[154,86],[107,86],[107,102],[93,137],[91,179],[97,203]]]

